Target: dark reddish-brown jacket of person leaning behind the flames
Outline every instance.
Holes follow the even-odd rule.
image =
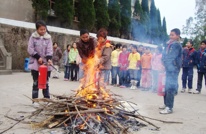
[[[86,61],[89,57],[94,57],[95,47],[97,46],[97,41],[93,37],[89,37],[88,42],[83,42],[80,40],[77,42],[77,49],[82,62]]]

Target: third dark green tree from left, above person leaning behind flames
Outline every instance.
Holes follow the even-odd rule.
[[[93,0],[81,0],[79,2],[79,27],[81,29],[93,30],[95,26],[95,9]]]

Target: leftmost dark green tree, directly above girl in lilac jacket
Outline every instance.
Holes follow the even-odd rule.
[[[49,11],[48,0],[31,0],[32,7],[34,8],[35,20],[46,20]]]

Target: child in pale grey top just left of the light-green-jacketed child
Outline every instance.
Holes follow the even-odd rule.
[[[70,64],[69,64],[69,51],[71,46],[68,44],[66,50],[63,53],[63,65],[64,65],[64,80],[68,81],[70,79]]]

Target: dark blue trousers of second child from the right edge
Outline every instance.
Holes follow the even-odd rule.
[[[188,82],[187,82],[188,80]],[[183,67],[182,68],[182,87],[192,89],[192,81],[193,81],[193,67]]]

